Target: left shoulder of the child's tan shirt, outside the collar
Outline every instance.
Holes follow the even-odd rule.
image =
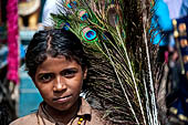
[[[36,125],[36,123],[38,123],[36,114],[32,113],[30,115],[13,121],[12,123],[10,123],[10,125]]]

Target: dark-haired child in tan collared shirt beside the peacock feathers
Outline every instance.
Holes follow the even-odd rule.
[[[87,75],[81,41],[70,31],[48,30],[34,34],[25,66],[43,97],[39,111],[10,125],[104,125],[97,111],[80,97]]]

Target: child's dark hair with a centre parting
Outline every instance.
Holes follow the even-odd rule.
[[[64,55],[66,60],[75,60],[83,70],[88,64],[80,39],[71,31],[52,29],[36,32],[25,54],[29,75],[33,77],[38,66],[48,56],[56,58],[59,55]]]

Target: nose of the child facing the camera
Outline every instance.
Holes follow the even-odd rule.
[[[61,76],[56,77],[55,83],[53,85],[53,91],[62,92],[64,90],[66,90],[65,81]]]

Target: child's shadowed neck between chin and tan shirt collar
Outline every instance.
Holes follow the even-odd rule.
[[[77,113],[80,106],[80,101],[77,100],[74,105],[72,105],[69,110],[66,111],[59,111],[53,108],[50,105],[44,105],[44,110],[46,113],[55,121],[60,122],[63,124],[67,124]]]

